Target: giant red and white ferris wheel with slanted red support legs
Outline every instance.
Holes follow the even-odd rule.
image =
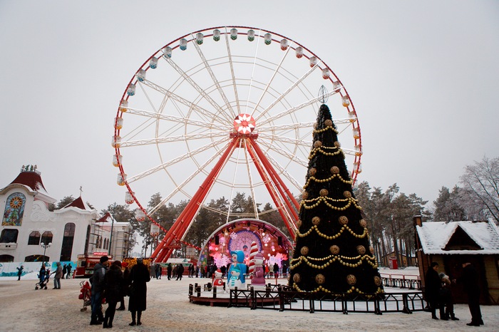
[[[320,90],[320,92],[319,92]],[[188,33],[153,53],[126,85],[114,119],[113,165],[136,217],[189,202],[153,256],[168,258],[201,208],[237,193],[259,219],[273,204],[294,237],[312,147],[327,100],[352,180],[361,172],[356,110],[336,74],[308,48],[272,31],[220,26]],[[150,197],[162,200],[149,206]],[[241,214],[237,214],[241,216]],[[162,251],[163,250],[163,251]]]

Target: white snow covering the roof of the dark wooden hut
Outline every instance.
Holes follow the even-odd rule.
[[[446,250],[456,229],[472,239],[478,250]],[[425,254],[499,254],[499,230],[493,222],[423,222],[416,232]]]

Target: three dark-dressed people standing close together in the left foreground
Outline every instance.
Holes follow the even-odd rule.
[[[123,271],[122,271],[123,269]],[[132,322],[128,325],[142,325],[142,312],[147,302],[147,285],[150,281],[149,269],[143,264],[143,259],[137,259],[132,269],[127,263],[113,261],[110,264],[108,256],[102,256],[99,263],[93,268],[91,276],[91,306],[92,314],[90,325],[101,325],[103,328],[112,328],[116,305],[118,310],[125,310],[125,296],[129,296],[128,311]],[[102,313],[103,299],[106,299],[108,308]]]

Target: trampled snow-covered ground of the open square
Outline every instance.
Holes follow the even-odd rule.
[[[10,279],[10,280],[9,280]],[[89,326],[90,308],[80,311],[78,299],[82,279],[64,279],[60,290],[35,291],[32,279],[0,279],[0,331],[97,331]],[[189,284],[209,279],[153,279],[148,284],[148,308],[142,326],[128,326],[130,313],[117,311],[117,331],[471,331],[468,306],[457,305],[461,321],[436,321],[430,313],[324,313],[307,311],[250,310],[190,304]],[[279,280],[284,282],[284,279]],[[394,289],[395,290],[395,289]],[[127,298],[128,301],[128,298]],[[128,307],[128,302],[127,302]],[[482,306],[485,326],[480,331],[498,331],[498,306]]]

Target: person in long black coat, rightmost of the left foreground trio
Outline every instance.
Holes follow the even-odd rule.
[[[145,284],[150,281],[148,267],[143,264],[143,259],[137,259],[130,270],[130,300],[128,301],[128,311],[132,313],[132,322],[128,325],[142,325],[140,318],[142,311],[145,311],[147,302],[148,286]],[[137,321],[135,321],[137,316]]]

